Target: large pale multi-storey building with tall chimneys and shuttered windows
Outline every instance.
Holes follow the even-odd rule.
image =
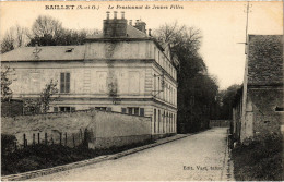
[[[168,45],[146,34],[146,24],[104,20],[103,34],[82,46],[23,47],[3,53],[3,65],[15,69],[13,98],[38,97],[50,80],[59,99],[50,112],[96,108],[152,117],[152,133],[176,133],[177,66]]]

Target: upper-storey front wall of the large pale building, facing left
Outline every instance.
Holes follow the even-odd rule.
[[[96,94],[108,96],[145,94],[145,61],[88,61],[88,62],[19,62],[11,85],[14,96],[40,93],[50,80],[58,81],[60,73],[70,73],[70,94]],[[97,96],[96,96],[97,97]]]

